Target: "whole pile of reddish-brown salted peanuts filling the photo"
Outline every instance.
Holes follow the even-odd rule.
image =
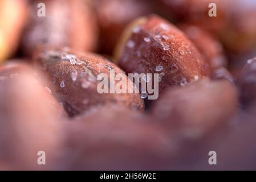
[[[255,169],[255,9],[0,0],[0,169]],[[112,69],[159,73],[159,98],[100,94]]]

